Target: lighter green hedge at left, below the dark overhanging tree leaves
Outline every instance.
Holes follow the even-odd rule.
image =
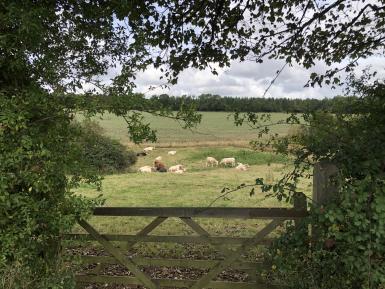
[[[100,204],[75,196],[71,189],[80,179],[98,184],[99,178],[77,166],[72,117],[60,101],[31,88],[11,97],[1,94],[0,99],[2,285],[70,286],[70,272],[56,257],[60,236]]]

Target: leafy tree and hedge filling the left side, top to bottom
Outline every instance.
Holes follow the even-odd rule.
[[[126,15],[138,17],[136,11]],[[77,218],[101,203],[73,194],[81,182],[101,184],[79,161],[80,131],[71,125],[75,113],[122,116],[135,143],[156,141],[142,111],[177,119],[184,127],[200,120],[192,107],[172,112],[132,92],[134,73],[149,65],[148,43],[116,25],[118,12],[105,1],[0,1],[0,280],[5,288],[74,285],[58,244]],[[120,75],[103,86],[98,78],[120,63]],[[94,86],[86,89],[90,83]]]

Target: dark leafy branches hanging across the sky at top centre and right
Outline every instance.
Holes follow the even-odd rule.
[[[116,6],[124,20],[135,4]],[[187,67],[211,68],[233,60],[282,59],[305,68],[322,62],[310,84],[340,84],[360,58],[384,51],[384,1],[143,1],[145,17],[131,18],[133,33],[148,37],[155,67],[171,83]],[[341,66],[335,64],[346,63]],[[286,65],[286,64],[285,64]],[[279,73],[279,72],[278,72]]]

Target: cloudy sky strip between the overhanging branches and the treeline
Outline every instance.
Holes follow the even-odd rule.
[[[267,60],[262,64],[233,62],[230,67],[219,69],[219,75],[213,75],[209,70],[187,69],[180,75],[178,83],[169,88],[162,88],[165,81],[159,79],[160,71],[150,68],[138,75],[136,91],[148,96],[160,93],[176,96],[211,93],[222,96],[262,97],[277,70],[281,69],[283,65],[284,62],[278,60]],[[360,71],[367,66],[376,70],[380,77],[385,77],[384,57],[372,56],[361,60],[356,69],[357,74],[360,74]],[[322,72],[326,69],[326,65],[321,63],[311,70],[306,70],[298,65],[286,66],[265,97],[322,99],[342,95],[342,88],[304,87],[311,72]],[[151,87],[155,87],[155,89],[151,89]]]

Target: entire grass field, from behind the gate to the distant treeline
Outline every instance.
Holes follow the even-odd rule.
[[[106,206],[131,207],[282,207],[289,204],[280,203],[276,199],[266,198],[260,191],[254,196],[249,190],[236,191],[228,198],[218,198],[224,187],[235,188],[238,185],[252,184],[256,178],[264,178],[268,182],[279,179],[292,165],[290,159],[272,153],[252,151],[247,148],[249,140],[255,132],[246,127],[235,127],[226,119],[227,113],[203,113],[202,124],[197,132],[181,129],[177,123],[169,119],[146,116],[158,131],[159,143],[150,155],[140,157],[137,164],[127,173],[105,176],[103,181],[103,197]],[[273,121],[284,118],[284,114],[274,114]],[[105,134],[120,140],[130,148],[140,150],[129,144],[124,122],[112,115],[103,116],[99,120]],[[274,128],[276,132],[285,134],[288,127]],[[143,145],[144,146],[144,145]],[[167,155],[170,148],[175,148],[175,156]],[[169,167],[183,164],[187,172],[182,175],[171,173],[137,173],[138,167],[152,165],[157,156]],[[206,168],[205,159],[213,156],[217,159],[235,157],[237,162],[250,165],[248,171],[236,171],[234,168]],[[302,184],[304,192],[310,193],[311,182]],[[100,194],[91,186],[82,186],[78,193],[96,197]],[[135,234],[152,218],[147,217],[93,217],[91,223],[103,233]],[[262,220],[226,220],[199,219],[199,223],[213,235],[250,236],[265,224]],[[80,228],[75,228],[79,231]],[[153,234],[187,235],[192,231],[180,220],[170,219],[161,224]],[[175,244],[139,245],[137,250],[146,254],[168,252],[175,253]],[[175,247],[176,246],[176,247]],[[190,247],[189,250],[196,248]],[[149,253],[150,252],[150,253]],[[178,251],[178,254],[180,252]],[[183,254],[183,253],[180,253]]]

